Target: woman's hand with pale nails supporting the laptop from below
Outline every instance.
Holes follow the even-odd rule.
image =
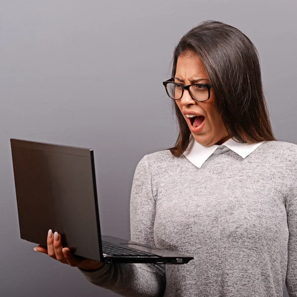
[[[102,262],[96,260],[73,255],[68,247],[62,246],[61,236],[57,232],[52,234],[52,231],[49,230],[47,243],[48,247],[37,246],[34,250],[46,253],[51,258],[58,260],[61,263],[79,267],[84,270],[97,270],[104,265]]]

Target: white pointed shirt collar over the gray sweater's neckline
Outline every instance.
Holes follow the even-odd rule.
[[[229,138],[220,146],[212,145],[210,147],[204,147],[200,145],[191,134],[189,146],[185,150],[184,156],[195,166],[201,168],[202,164],[208,159],[208,157],[212,153],[222,153],[231,149],[243,158],[245,158],[262,143],[264,143],[264,141],[255,144],[240,144],[235,142],[232,138]]]

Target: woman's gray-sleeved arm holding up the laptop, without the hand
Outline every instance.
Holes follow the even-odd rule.
[[[147,157],[138,163],[131,190],[131,240],[154,246],[153,225],[155,200],[151,190],[151,174]],[[163,265],[123,264],[104,265],[96,271],[79,269],[92,284],[122,296],[159,297],[165,289]]]

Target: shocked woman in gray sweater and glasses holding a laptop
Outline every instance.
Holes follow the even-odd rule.
[[[79,261],[48,250],[123,296],[297,297],[297,145],[273,136],[257,51],[238,29],[189,31],[163,83],[176,145],[145,155],[131,192],[131,240],[194,256],[185,265]]]

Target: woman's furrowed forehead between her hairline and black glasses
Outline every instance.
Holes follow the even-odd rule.
[[[182,53],[178,57],[175,76],[183,80],[208,78],[201,59],[194,52]]]

